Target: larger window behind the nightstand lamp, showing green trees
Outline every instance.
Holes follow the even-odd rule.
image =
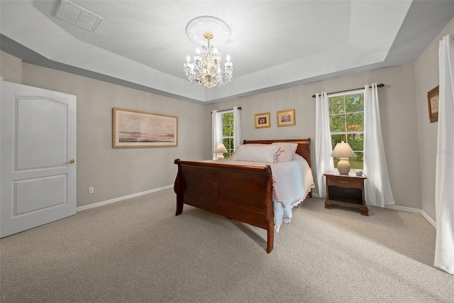
[[[352,169],[362,169],[364,158],[364,95],[362,92],[328,98],[329,125],[333,148],[344,141],[350,144],[356,158],[348,159]],[[337,167],[339,158],[334,158]]]

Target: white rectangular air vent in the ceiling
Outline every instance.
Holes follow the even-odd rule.
[[[82,7],[66,0],[60,1],[55,17],[92,32],[94,32],[99,26],[99,23],[104,20],[104,18],[96,16],[94,13],[82,9]]]

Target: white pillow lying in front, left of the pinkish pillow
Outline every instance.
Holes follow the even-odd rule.
[[[270,144],[243,144],[238,146],[230,160],[276,163],[281,148]]]

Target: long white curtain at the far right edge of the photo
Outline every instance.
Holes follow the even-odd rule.
[[[454,275],[454,35],[440,41],[440,87],[435,181],[437,268]]]

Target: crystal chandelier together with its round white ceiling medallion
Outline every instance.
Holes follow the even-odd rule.
[[[196,55],[192,58],[192,62],[189,55],[186,58],[187,62],[183,66],[189,81],[208,88],[230,82],[233,72],[233,63],[230,62],[230,57],[226,57],[227,62],[224,63],[224,70],[221,70],[221,50],[210,44],[210,41],[215,41],[216,45],[221,45],[230,39],[231,31],[228,25],[221,19],[201,16],[189,21],[186,26],[186,33],[194,43],[201,45],[206,39],[207,44],[206,46],[203,45],[201,50],[196,49]]]

